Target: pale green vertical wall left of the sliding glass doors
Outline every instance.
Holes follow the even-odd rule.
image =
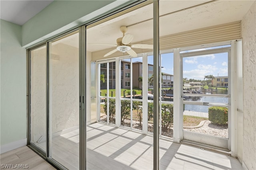
[[[21,26],[0,21],[0,145],[26,139],[26,49]]]

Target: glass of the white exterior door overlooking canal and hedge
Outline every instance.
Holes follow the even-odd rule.
[[[194,138],[188,132],[228,139],[229,51],[194,51],[192,56],[190,51],[182,53],[184,139],[200,141],[200,137]],[[228,148],[227,140],[216,138],[215,144],[213,140],[201,142]]]

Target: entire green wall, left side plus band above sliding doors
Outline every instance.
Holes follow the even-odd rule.
[[[56,0],[24,25],[0,21],[0,145],[26,139],[26,49],[136,0]],[[22,48],[23,47],[23,48]]]

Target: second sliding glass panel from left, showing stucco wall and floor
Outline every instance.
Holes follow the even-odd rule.
[[[79,33],[49,43],[50,157],[79,169]]]

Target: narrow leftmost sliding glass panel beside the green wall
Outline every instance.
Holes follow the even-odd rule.
[[[30,142],[46,152],[46,45],[30,51]]]

